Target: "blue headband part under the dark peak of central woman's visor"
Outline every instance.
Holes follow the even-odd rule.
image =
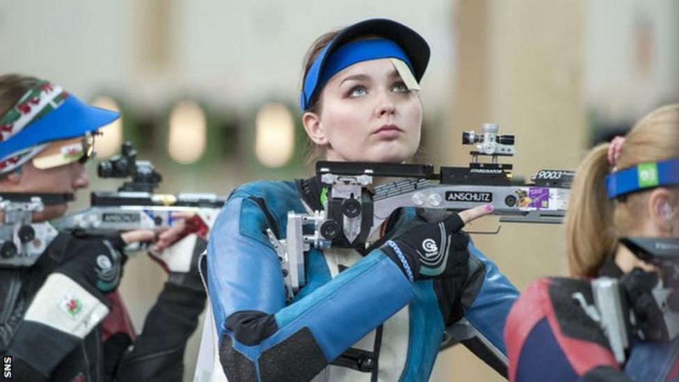
[[[323,88],[323,85],[328,82],[330,77],[355,63],[376,60],[378,58],[398,58],[408,64],[410,71],[414,72],[413,65],[410,63],[406,52],[392,40],[372,38],[369,40],[347,42],[330,52],[326,57],[328,47],[331,45],[328,44],[327,47],[323,48],[309,68],[306,77],[304,77],[304,86],[299,97],[299,106],[302,111],[310,106],[309,102],[312,97],[319,89]]]

